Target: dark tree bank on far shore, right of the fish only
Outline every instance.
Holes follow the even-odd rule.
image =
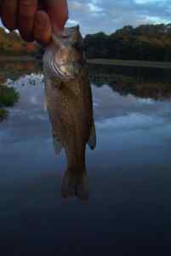
[[[86,56],[92,58],[171,61],[171,24],[124,26],[84,38]]]

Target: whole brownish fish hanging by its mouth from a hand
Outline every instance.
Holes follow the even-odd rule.
[[[96,147],[93,96],[79,26],[65,28],[43,56],[46,108],[52,127],[54,152],[66,153],[62,181],[64,198],[88,201],[86,146]]]

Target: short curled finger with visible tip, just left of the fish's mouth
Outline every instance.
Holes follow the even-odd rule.
[[[44,11],[38,11],[34,21],[34,38],[40,44],[48,44],[51,40],[51,24]]]

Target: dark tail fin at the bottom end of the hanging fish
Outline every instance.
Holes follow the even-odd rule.
[[[63,198],[77,196],[83,203],[88,202],[88,177],[83,172],[66,171],[62,181]]]

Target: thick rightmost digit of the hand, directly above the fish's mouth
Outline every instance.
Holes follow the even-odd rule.
[[[67,0],[46,0],[46,5],[52,24],[62,30],[68,20]]]

